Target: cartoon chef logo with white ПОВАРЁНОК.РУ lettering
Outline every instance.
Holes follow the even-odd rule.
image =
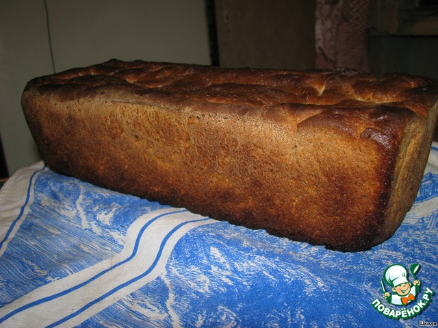
[[[409,319],[423,312],[432,301],[434,292],[426,287],[420,296],[422,283],[417,279],[418,271],[420,264],[412,264],[409,271],[401,264],[388,266],[381,279],[381,290],[383,299],[396,307],[388,307],[379,299],[375,299],[372,306],[384,316],[393,319]],[[409,273],[413,281],[409,281]]]

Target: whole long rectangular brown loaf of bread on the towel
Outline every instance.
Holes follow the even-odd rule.
[[[29,81],[47,166],[340,251],[392,236],[430,151],[437,81],[110,60]]]

